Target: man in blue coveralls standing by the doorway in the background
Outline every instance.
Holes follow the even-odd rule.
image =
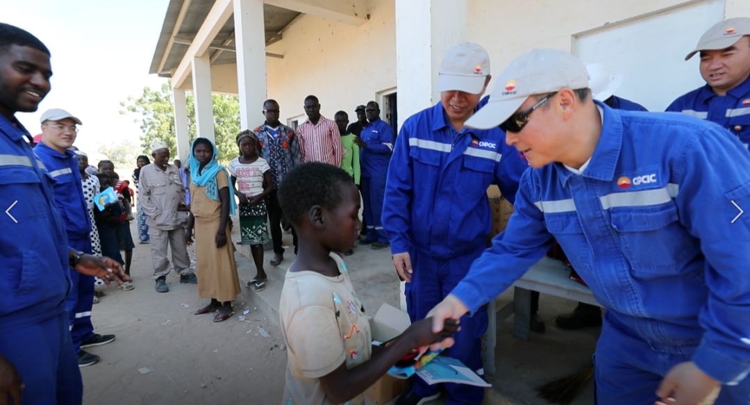
[[[362,202],[368,233],[362,245],[372,244],[374,250],[388,248],[388,236],[380,223],[383,214],[383,196],[386,193],[386,174],[393,154],[393,130],[380,119],[380,106],[370,101],[365,108],[370,123],[362,129],[359,161],[362,166]]]

